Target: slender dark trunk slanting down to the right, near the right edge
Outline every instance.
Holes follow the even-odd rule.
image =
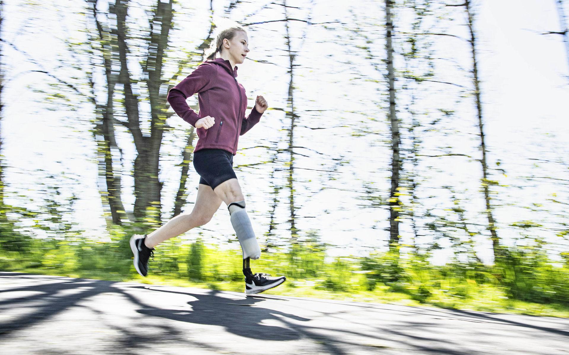
[[[492,214],[492,204],[490,203],[490,186],[488,179],[488,165],[486,164],[486,144],[484,142],[484,121],[482,116],[482,103],[480,100],[480,81],[478,78],[478,64],[476,61],[476,36],[473,28],[474,16],[470,6],[470,1],[465,0],[464,6],[468,14],[468,28],[470,30],[471,39],[469,40],[472,49],[472,73],[474,78],[475,97],[476,97],[476,110],[478,116],[478,127],[480,129],[480,150],[482,151],[482,158],[480,163],[482,165],[482,187],[484,191],[484,201],[486,203],[486,215],[488,216],[488,231],[492,239],[492,250],[494,252],[494,260],[502,256],[502,248],[500,247],[500,239],[496,232],[496,222]]]

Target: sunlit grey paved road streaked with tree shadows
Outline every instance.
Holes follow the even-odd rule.
[[[0,272],[0,354],[569,354],[569,320]]]

